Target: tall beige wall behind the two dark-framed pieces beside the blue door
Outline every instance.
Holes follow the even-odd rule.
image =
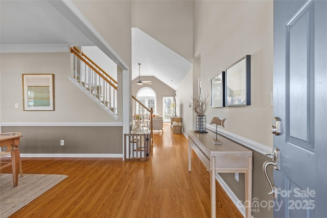
[[[194,1],[193,20],[194,55],[201,57],[202,94],[211,93],[212,78],[251,55],[251,105],[209,107],[207,120],[227,118],[223,130],[272,147],[272,1]]]

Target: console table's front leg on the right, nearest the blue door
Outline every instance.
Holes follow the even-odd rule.
[[[245,217],[251,217],[252,210],[252,157],[248,157],[248,168],[245,173]]]

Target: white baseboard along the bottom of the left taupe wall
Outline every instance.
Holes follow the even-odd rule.
[[[123,154],[20,154],[20,157],[123,158]]]

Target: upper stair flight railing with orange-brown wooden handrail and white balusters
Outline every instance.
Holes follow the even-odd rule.
[[[117,82],[77,47],[71,47],[71,53],[74,54],[74,74],[69,80],[118,120]]]

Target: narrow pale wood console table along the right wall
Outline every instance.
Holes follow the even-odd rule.
[[[245,213],[251,217],[252,204],[252,151],[239,144],[218,137],[222,144],[214,144],[213,132],[189,131],[189,171],[191,171],[191,148],[210,172],[211,217],[216,217],[216,173],[245,174]]]

